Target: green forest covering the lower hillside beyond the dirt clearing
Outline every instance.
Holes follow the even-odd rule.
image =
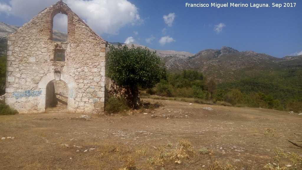
[[[267,77],[248,77],[236,81],[216,83],[202,73],[183,70],[166,74],[148,94],[166,97],[202,99],[204,103],[225,106],[259,107],[302,111],[302,70],[278,72]]]

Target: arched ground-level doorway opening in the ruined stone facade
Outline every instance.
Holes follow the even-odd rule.
[[[66,111],[68,108],[68,85],[63,80],[51,80],[46,86],[46,111]]]

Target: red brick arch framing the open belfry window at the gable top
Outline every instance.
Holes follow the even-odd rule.
[[[61,1],[52,5],[47,9],[48,18],[46,19],[46,25],[43,29],[44,35],[48,37],[49,40],[53,39],[53,17],[59,13],[67,15],[67,41],[70,41],[75,36],[76,25],[73,23],[73,17],[76,16],[71,9]]]

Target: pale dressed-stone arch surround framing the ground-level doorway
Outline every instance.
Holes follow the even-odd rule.
[[[40,111],[45,111],[46,108],[46,87],[47,84],[55,80],[55,76],[53,73],[48,73],[44,77],[42,77],[41,81],[38,84],[38,88],[42,91],[42,94],[38,98],[38,108]],[[76,82],[70,77],[69,75],[66,74],[61,74],[60,80],[65,81],[67,83],[68,87],[68,102],[67,102],[67,110],[73,111],[75,107],[75,96],[76,96]]]

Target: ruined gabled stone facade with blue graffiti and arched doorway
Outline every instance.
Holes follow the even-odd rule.
[[[68,16],[66,42],[52,41],[58,13]],[[69,111],[102,113],[105,48],[101,37],[57,2],[8,37],[5,102],[19,113],[40,113],[64,93]]]

